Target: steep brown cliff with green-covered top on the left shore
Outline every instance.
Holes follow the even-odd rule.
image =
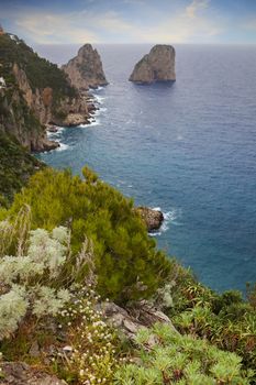
[[[30,151],[58,146],[47,140],[47,124],[88,122],[87,96],[16,36],[0,36],[0,131],[15,136]]]

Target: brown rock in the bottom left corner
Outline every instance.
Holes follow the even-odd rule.
[[[23,362],[2,362],[1,385],[67,385],[55,375],[32,369]]]

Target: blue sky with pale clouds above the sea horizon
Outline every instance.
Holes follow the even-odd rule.
[[[256,43],[256,0],[0,0],[31,44]]]

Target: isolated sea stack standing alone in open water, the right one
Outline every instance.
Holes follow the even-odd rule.
[[[134,67],[130,81],[151,84],[154,81],[174,81],[175,48],[171,45],[157,44]]]

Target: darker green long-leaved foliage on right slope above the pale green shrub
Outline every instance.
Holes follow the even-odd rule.
[[[201,285],[192,274],[172,261],[171,274],[156,301],[165,308],[181,333],[208,339],[218,348],[242,356],[245,370],[256,367],[256,311],[237,290],[218,295]],[[167,292],[165,292],[165,289]],[[164,290],[164,292],[163,292]],[[251,292],[249,292],[251,293]],[[256,381],[256,377],[254,378]]]

